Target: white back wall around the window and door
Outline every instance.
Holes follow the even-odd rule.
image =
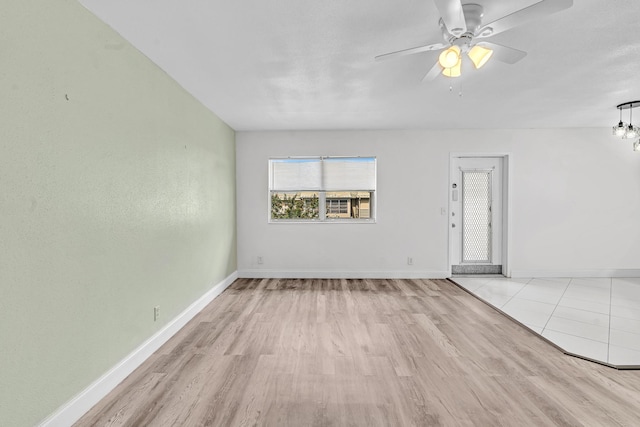
[[[510,153],[513,276],[640,273],[640,153],[609,129],[239,132],[236,143],[241,277],[446,277],[451,152]],[[376,156],[377,223],[269,224],[267,159],[303,155]]]

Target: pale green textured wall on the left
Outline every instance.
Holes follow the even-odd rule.
[[[0,425],[15,427],[236,271],[235,135],[75,0],[2,0],[0,94]]]

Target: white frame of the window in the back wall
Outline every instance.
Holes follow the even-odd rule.
[[[374,165],[374,188],[373,189],[355,189],[355,188],[344,188],[340,190],[325,190],[324,188],[320,189],[304,189],[300,188],[299,190],[278,190],[273,188],[273,171],[272,171],[272,162],[277,160],[288,160],[288,159],[297,159],[297,160],[315,160],[318,159],[320,161],[324,161],[326,159],[373,159]],[[332,224],[332,223],[342,223],[342,224],[375,224],[377,218],[377,179],[378,179],[378,159],[376,156],[289,156],[289,157],[269,157],[269,189],[267,192],[267,220],[270,224],[291,224],[291,223],[302,223],[302,224]],[[317,192],[318,193],[318,218],[314,219],[301,219],[301,218],[271,218],[271,196],[273,193],[300,193],[300,192]],[[326,215],[326,194],[327,193],[336,193],[336,192],[368,192],[370,194],[369,198],[369,218],[329,218]]]

